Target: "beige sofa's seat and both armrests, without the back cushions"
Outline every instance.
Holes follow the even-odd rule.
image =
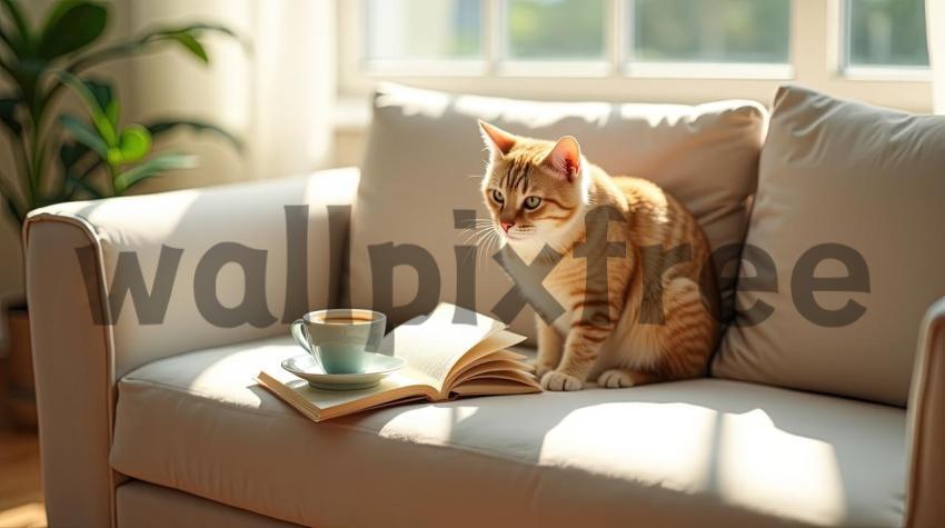
[[[358,178],[337,169],[30,216],[50,526],[945,522],[945,301],[922,326],[908,411],[707,378],[308,421],[253,376],[298,353],[286,323],[300,292],[312,309],[346,295],[344,206]],[[287,247],[299,236],[301,252]],[[108,299],[140,278],[116,271],[131,255],[147,287],[117,316]],[[249,277],[219,255],[252,262]],[[219,306],[196,279],[208,268]],[[235,308],[260,295],[267,310]]]

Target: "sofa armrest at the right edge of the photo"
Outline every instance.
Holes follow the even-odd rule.
[[[925,315],[913,369],[906,446],[906,526],[945,519],[945,298]]]

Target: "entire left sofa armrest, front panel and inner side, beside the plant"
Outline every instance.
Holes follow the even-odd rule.
[[[111,526],[115,386],[338,299],[357,169],[50,206],[23,227],[51,526]],[[240,269],[242,268],[242,269]]]

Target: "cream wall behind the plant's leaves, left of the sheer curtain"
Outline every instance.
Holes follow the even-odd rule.
[[[155,26],[196,21],[223,24],[240,34],[252,33],[253,0],[122,0],[132,33]],[[278,3],[278,2],[276,2]],[[251,123],[252,57],[239,42],[211,37],[205,66],[178,49],[129,61],[128,94],[135,119],[177,116],[212,121],[238,135]],[[223,141],[209,135],[176,133],[173,150],[199,157],[199,167],[176,171],[136,188],[136,193],[201,187],[251,178],[248,165]]]

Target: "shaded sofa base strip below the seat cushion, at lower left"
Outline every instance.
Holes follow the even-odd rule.
[[[298,528],[172,489],[132,480],[116,490],[119,528]]]

